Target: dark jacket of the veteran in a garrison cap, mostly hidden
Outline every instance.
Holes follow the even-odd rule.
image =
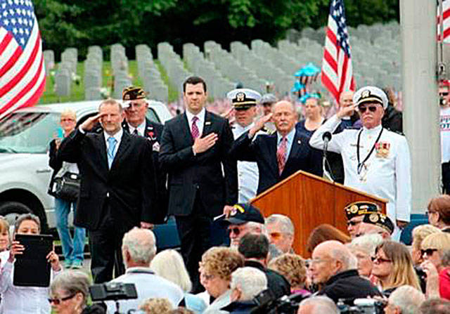
[[[124,120],[122,123],[124,131],[129,133],[129,127]],[[150,142],[153,155],[153,168],[155,169],[156,179],[155,182],[155,202],[153,208],[155,209],[155,222],[164,223],[167,216],[167,205],[169,202],[169,194],[167,192],[167,172],[162,170],[162,166],[158,160],[160,152],[161,136],[162,136],[162,124],[158,122],[152,122],[146,119],[146,129],[144,131],[144,137]]]

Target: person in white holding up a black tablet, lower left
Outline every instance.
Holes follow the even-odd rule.
[[[39,235],[41,222],[33,214],[23,214],[15,221],[15,235]],[[15,256],[23,254],[25,247],[13,240],[11,249],[0,253],[0,294],[1,307],[4,314],[43,314],[50,313],[49,287],[18,287],[13,284]],[[47,256],[51,263],[51,277],[56,277],[63,268],[60,266],[58,254],[51,251]]]

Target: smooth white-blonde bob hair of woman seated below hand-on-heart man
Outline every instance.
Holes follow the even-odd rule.
[[[192,282],[186,266],[184,266],[183,258],[174,249],[166,249],[156,254],[150,263],[150,269],[156,275],[177,284],[184,292],[191,291]]]

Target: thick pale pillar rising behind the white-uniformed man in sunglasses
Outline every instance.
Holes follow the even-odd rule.
[[[401,0],[404,133],[411,150],[412,213],[423,214],[439,194],[436,1]]]

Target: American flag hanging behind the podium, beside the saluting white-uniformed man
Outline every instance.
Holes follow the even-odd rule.
[[[337,102],[342,91],[354,91],[356,87],[343,0],[330,1],[321,81]]]

